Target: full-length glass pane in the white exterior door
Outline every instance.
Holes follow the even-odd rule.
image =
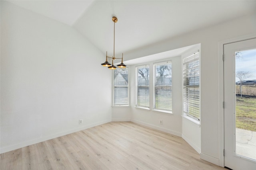
[[[256,49],[236,55],[236,154],[256,160]]]

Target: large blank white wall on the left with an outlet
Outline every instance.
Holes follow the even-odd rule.
[[[72,27],[1,1],[1,153],[111,121],[104,56]]]

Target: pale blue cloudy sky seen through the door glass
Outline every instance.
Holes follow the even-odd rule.
[[[247,80],[256,80],[256,49],[250,49],[246,51],[240,51],[241,57],[236,59],[236,72],[248,71],[251,73],[251,77]],[[236,82],[239,81],[236,78]]]

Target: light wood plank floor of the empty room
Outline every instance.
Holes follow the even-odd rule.
[[[182,138],[111,122],[1,154],[1,170],[222,170]]]

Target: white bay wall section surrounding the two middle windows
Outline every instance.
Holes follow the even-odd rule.
[[[161,61],[172,61],[172,114],[153,111],[153,88],[150,86],[150,110],[135,107],[136,83],[135,66],[130,66],[130,100],[131,121],[146,125],[173,135],[182,136],[182,68],[181,57],[171,57]],[[153,64],[159,61],[140,63],[138,65],[150,64],[150,84],[153,84]],[[160,124],[160,120],[163,121]]]

